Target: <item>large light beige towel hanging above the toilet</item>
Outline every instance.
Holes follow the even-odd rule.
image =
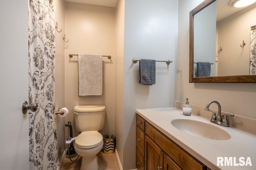
[[[78,96],[102,96],[102,55],[78,54]]]

